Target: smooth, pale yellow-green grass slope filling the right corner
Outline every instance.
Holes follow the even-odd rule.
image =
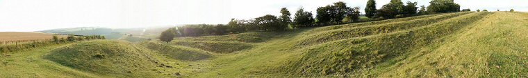
[[[381,77],[528,77],[528,14],[495,12],[444,43],[389,66]]]

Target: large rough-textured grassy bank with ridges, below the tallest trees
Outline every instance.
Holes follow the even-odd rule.
[[[365,72],[379,63],[391,62],[389,60],[395,57],[417,51],[415,50],[417,48],[442,42],[443,37],[479,21],[487,14],[490,13],[476,12],[410,30],[368,37],[351,37],[310,46],[303,50],[305,52],[300,60],[290,61],[284,69],[290,68],[286,70],[290,74],[310,76],[332,74],[343,76],[351,72]]]

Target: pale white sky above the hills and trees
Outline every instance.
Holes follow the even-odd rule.
[[[28,32],[56,28],[145,28],[181,24],[228,23],[231,18],[252,19],[279,15],[288,8],[315,14],[317,7],[344,1],[365,8],[368,0],[0,0],[0,32]],[[376,0],[377,8],[390,0]],[[428,6],[430,0],[416,1]],[[455,0],[461,9],[528,11],[528,0]],[[292,15],[293,16],[293,15]]]

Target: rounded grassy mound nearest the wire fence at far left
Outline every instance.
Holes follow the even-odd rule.
[[[126,41],[85,41],[52,50],[45,58],[102,75],[148,75],[158,61],[151,52]]]

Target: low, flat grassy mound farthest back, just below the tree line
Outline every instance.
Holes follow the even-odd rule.
[[[217,53],[231,53],[253,47],[249,43],[238,41],[172,41],[172,43]]]

